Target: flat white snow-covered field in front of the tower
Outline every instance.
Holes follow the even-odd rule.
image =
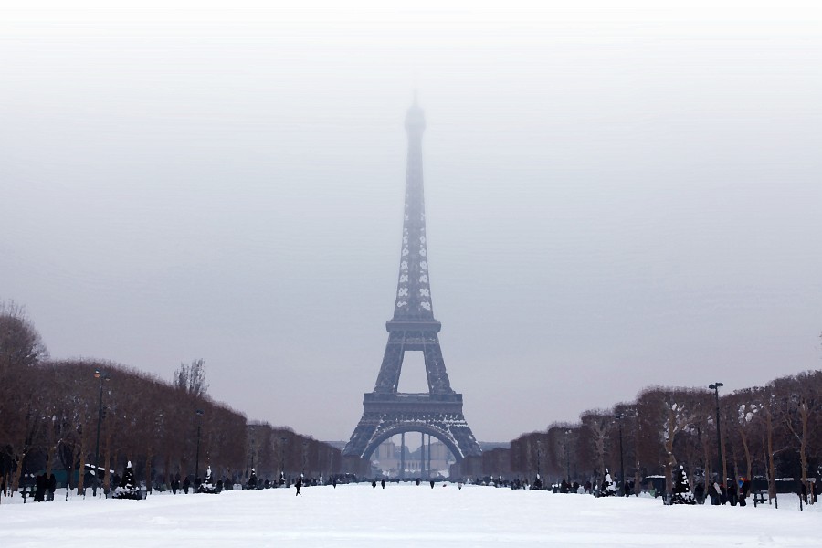
[[[370,484],[219,495],[153,494],[145,501],[0,504],[4,546],[819,546],[822,504],[799,511],[664,506],[456,484]],[[62,494],[62,497],[60,496]]]

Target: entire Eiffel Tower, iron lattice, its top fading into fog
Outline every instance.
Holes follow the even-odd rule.
[[[385,323],[388,343],[374,392],[364,394],[363,417],[342,449],[343,457],[359,458],[361,467],[367,466],[371,454],[385,439],[396,434],[402,434],[405,439],[406,432],[421,432],[423,439],[428,434],[429,447],[430,437],[436,437],[448,447],[458,464],[466,457],[481,454],[462,414],[462,395],[454,392],[448,381],[437,335],[441,324],[434,319],[431,306],[422,171],[425,128],[425,116],[416,104],[415,95],[414,104],[406,114],[406,211],[394,318]],[[423,353],[427,393],[397,392],[403,358],[408,351]]]

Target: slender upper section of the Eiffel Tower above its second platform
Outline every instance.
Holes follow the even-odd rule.
[[[431,307],[431,286],[428,281],[426,205],[423,193],[422,134],[425,128],[426,117],[416,104],[415,97],[414,104],[406,113],[406,209],[392,321],[435,321]]]

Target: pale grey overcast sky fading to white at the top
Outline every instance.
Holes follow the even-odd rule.
[[[479,439],[822,366],[811,2],[77,4],[0,12],[0,299],[55,358],[171,380],[202,357],[250,419],[348,439],[416,88],[434,313]]]

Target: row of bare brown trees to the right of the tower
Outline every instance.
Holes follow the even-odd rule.
[[[492,464],[484,463],[486,474],[497,473],[485,464]],[[588,410],[576,424],[554,423],[511,441],[510,473],[525,476],[542,471],[584,481],[624,468],[637,488],[650,475],[664,475],[670,490],[680,465],[698,481],[761,477],[772,498],[777,478],[798,479],[810,493],[822,474],[822,371],[718,400],[707,389],[653,386],[633,402]]]

